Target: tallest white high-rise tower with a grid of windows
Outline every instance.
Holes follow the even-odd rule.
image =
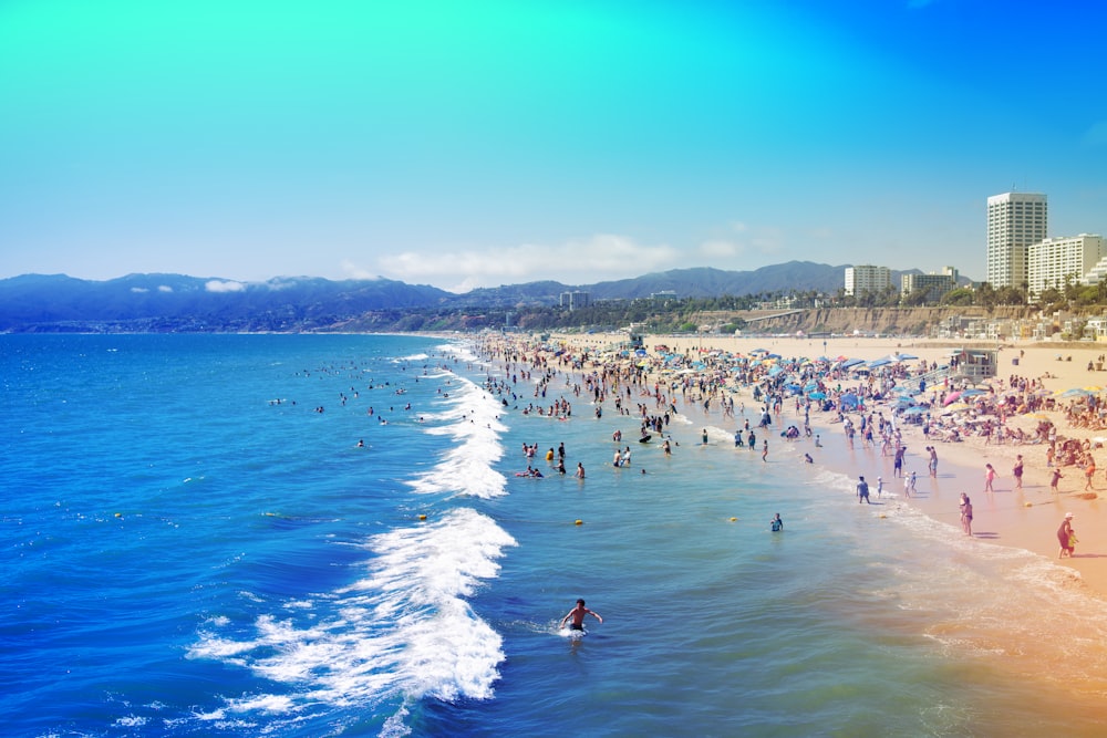
[[[1045,240],[1047,226],[1045,195],[1004,193],[987,198],[987,282],[994,289],[1027,282],[1027,250]]]

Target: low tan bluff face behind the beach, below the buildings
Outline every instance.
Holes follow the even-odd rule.
[[[1018,319],[1030,310],[1018,306],[983,308],[826,308],[749,322],[749,333],[865,333],[925,335],[950,318]]]

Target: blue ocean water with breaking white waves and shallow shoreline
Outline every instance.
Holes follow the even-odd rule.
[[[809,445],[690,404],[617,469],[637,418],[579,374],[492,394],[461,337],[0,352],[4,735],[1103,734],[1100,600]]]

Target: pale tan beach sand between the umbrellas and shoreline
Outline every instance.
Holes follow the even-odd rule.
[[[624,342],[624,334],[607,335],[557,335],[551,343],[575,347],[590,346],[593,349]],[[721,351],[749,355],[754,350],[762,349],[779,354],[785,360],[793,357],[849,356],[871,361],[892,353],[918,356],[909,361],[914,368],[921,361],[948,363],[954,351],[960,351],[960,344],[927,340],[896,340],[868,337],[730,337],[730,336],[669,336],[651,335],[644,337],[644,344],[651,356],[659,355],[654,349],[665,345],[672,352],[699,354],[701,352]],[[971,349],[972,346],[970,346]],[[994,349],[995,346],[991,346]],[[1004,385],[1012,375],[1027,380],[1041,378],[1046,391],[1055,395],[1072,389],[1107,385],[1107,374],[1103,371],[1089,371],[1089,362],[1095,364],[1105,353],[1104,347],[1089,344],[1087,347],[1072,347],[1072,344],[1049,343],[1014,343],[1004,344],[997,360],[997,376],[989,384],[999,387],[999,381]],[[1061,361],[1058,361],[1061,357]],[[1072,357],[1067,361],[1067,357]],[[1018,364],[1013,363],[1018,358]],[[842,381],[844,386],[853,386],[856,381]],[[757,403],[753,399],[751,388],[743,388],[737,395],[745,403],[746,417],[752,416],[749,409],[756,410]],[[928,389],[927,394],[930,394]],[[1058,438],[1092,439],[1093,456],[1098,462],[1104,462],[1107,455],[1101,448],[1095,448],[1096,438],[1107,439],[1107,430],[1069,427],[1064,412],[1059,408],[1069,399],[1057,398],[1058,409],[1043,413],[1057,428]],[[785,402],[782,423],[801,425],[790,401]],[[868,409],[891,415],[891,408],[882,405],[871,405]],[[934,415],[941,410],[935,409]],[[714,415],[718,416],[717,410]],[[965,492],[972,498],[974,508],[973,538],[982,544],[1000,544],[1016,547],[1039,553],[1057,560],[1058,543],[1056,530],[1066,512],[1074,514],[1073,528],[1079,537],[1079,544],[1073,558],[1057,560],[1058,563],[1072,568],[1074,583],[1084,586],[1103,596],[1107,594],[1107,539],[1103,499],[1107,496],[1107,475],[1096,474],[1092,491],[1085,490],[1085,476],[1082,469],[1069,466],[1063,468],[1063,478],[1058,492],[1049,488],[1052,469],[1047,467],[1047,444],[1038,445],[989,445],[983,437],[969,436],[960,443],[944,443],[933,438],[927,439],[918,425],[902,424],[899,427],[907,446],[904,471],[915,471],[917,495],[910,499],[903,497],[903,480],[892,476],[892,457],[876,451],[862,451],[860,436],[855,441],[856,448],[850,450],[846,443],[842,427],[829,423],[835,415],[811,413],[811,425],[815,433],[821,435],[821,448],[811,448],[815,462],[851,478],[865,476],[876,495],[877,477],[883,477],[886,495],[897,499],[897,503],[911,505],[928,516],[943,523],[960,528],[961,518],[959,496]],[[853,414],[853,424],[858,426],[858,414]],[[716,417],[716,422],[718,418]],[[1008,425],[1025,423],[1008,419]],[[1033,420],[1031,420],[1033,424]],[[733,420],[730,420],[733,425]],[[774,435],[780,428],[774,429]],[[814,445],[813,445],[814,446]],[[928,471],[929,454],[925,446],[934,446],[939,456],[937,478],[931,478]],[[1015,489],[1012,467],[1016,455],[1024,457],[1023,489]],[[995,467],[997,477],[994,492],[984,492],[985,464]],[[1104,468],[1100,466],[1100,468]]]

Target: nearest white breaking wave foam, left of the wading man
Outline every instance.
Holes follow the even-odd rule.
[[[497,559],[509,545],[510,536],[469,509],[376,536],[366,544],[374,554],[369,575],[321,595],[317,622],[263,614],[245,636],[203,632],[188,655],[301,688],[228,699],[226,709],[234,713],[290,714],[311,704],[371,706],[425,696],[489,698],[504,659],[501,638],[464,597],[498,574]],[[220,623],[213,620],[208,627]]]

